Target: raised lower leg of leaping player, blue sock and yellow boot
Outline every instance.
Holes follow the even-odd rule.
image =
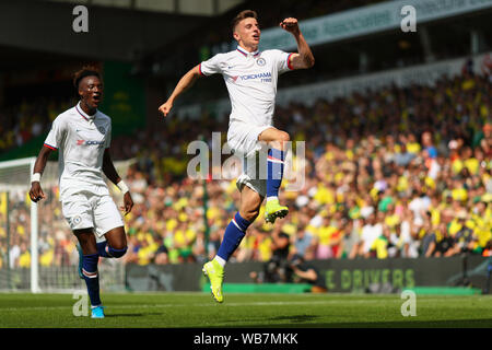
[[[279,202],[279,189],[282,184],[283,167],[289,133],[277,128],[268,128],[258,136],[259,141],[269,145],[267,159],[267,208],[266,221],[273,223],[277,218],[284,218],[289,213],[289,208]]]

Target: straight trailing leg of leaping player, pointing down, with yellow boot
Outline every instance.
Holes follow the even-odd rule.
[[[212,261],[203,265],[203,273],[210,280],[210,289],[213,299],[222,303],[222,282],[224,279],[224,266],[231,255],[237,249],[241,241],[246,234],[247,228],[258,217],[263,197],[247,186],[241,190],[239,211],[225,229],[224,238],[216,256]]]

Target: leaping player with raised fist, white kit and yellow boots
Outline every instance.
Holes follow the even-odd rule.
[[[222,281],[225,262],[239,245],[247,228],[258,217],[267,197],[266,221],[273,223],[284,218],[289,208],[279,203],[279,188],[283,176],[286,142],[285,131],[272,126],[278,75],[294,69],[311,68],[314,56],[304,39],[296,19],[285,19],[280,26],[291,33],[298,54],[281,50],[258,50],[260,28],[255,11],[241,12],[232,22],[236,50],[219,54],[189,70],[177,83],[169,98],[159,108],[166,116],[178,95],[202,75],[221,73],[227,86],[232,112],[227,143],[236,155],[244,159],[243,174],[237,179],[241,191],[239,211],[227,225],[216,256],[203,266],[210,279],[212,296],[223,301]],[[256,159],[268,144],[266,179],[258,178]],[[246,185],[246,186],[245,186]]]

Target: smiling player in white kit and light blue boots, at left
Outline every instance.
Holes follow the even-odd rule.
[[[81,100],[54,120],[34,165],[30,197],[34,202],[45,198],[40,176],[49,154],[59,150],[60,201],[63,217],[79,240],[79,275],[87,285],[92,317],[104,318],[98,259],[124,256],[127,238],[121,214],[109,196],[103,173],[124,192],[120,209],[125,214],[131,211],[133,201],[109,155],[112,119],[97,110],[104,91],[99,72],[84,67],[74,74],[73,83]]]

